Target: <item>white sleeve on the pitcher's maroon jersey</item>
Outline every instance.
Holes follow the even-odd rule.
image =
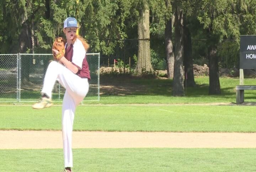
[[[82,45],[82,42],[77,39],[73,45],[73,57],[72,57],[72,62],[76,64],[78,67],[82,69],[82,62],[85,58],[85,48]]]

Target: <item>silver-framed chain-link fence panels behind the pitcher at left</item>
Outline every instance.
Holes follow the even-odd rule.
[[[87,53],[90,68],[90,88],[84,101],[100,99],[99,68],[100,53]],[[0,55],[0,102],[35,102],[41,97],[40,91],[44,74],[52,54],[9,54]],[[53,88],[53,101],[62,101],[65,93],[58,82]]]

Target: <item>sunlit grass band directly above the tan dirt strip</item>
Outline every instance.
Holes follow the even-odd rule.
[[[61,130],[61,106],[0,106],[1,130]],[[255,106],[83,105],[76,131],[256,132]]]

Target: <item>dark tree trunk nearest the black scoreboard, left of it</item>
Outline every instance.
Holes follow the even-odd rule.
[[[219,65],[217,47],[208,48],[209,57],[209,94],[220,94]]]

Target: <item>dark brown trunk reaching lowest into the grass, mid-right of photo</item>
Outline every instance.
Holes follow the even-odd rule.
[[[183,11],[175,10],[175,51],[174,51],[174,79],[172,87],[173,96],[184,96],[183,72]]]

